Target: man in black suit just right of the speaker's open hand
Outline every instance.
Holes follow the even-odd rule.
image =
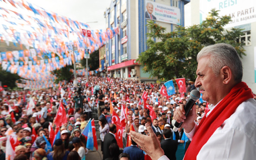
[[[164,129],[164,141],[161,142],[161,148],[164,150],[170,160],[176,160],[176,151],[178,148],[178,142],[171,139],[171,129]]]

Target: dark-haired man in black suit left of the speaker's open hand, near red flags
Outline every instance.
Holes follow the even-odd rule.
[[[109,132],[104,137],[104,144],[103,144],[103,160],[109,158],[109,146],[112,143],[116,143],[115,140],[115,133],[116,133],[116,126],[115,124],[109,125]]]

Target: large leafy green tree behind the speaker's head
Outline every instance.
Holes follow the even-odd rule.
[[[229,16],[219,16],[217,10],[211,10],[211,17],[200,25],[177,27],[173,32],[164,33],[165,28],[148,22],[148,49],[139,55],[138,61],[151,77],[170,80],[185,77],[196,79],[197,53],[207,45],[227,43],[236,48],[242,58],[245,55],[243,44],[236,39],[242,34],[240,29],[225,30],[223,26],[231,20]],[[155,42],[156,38],[159,41]]]

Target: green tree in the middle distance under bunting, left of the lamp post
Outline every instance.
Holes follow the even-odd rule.
[[[56,80],[54,80],[54,83],[59,83],[59,81],[66,80],[69,81],[72,78],[72,72],[70,72],[70,69],[74,69],[74,66],[66,66],[59,70],[53,70],[52,74],[57,77]]]

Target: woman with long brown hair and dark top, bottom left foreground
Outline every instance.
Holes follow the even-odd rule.
[[[67,160],[69,151],[66,151],[61,139],[57,139],[53,145],[53,151],[47,155],[48,160]]]

